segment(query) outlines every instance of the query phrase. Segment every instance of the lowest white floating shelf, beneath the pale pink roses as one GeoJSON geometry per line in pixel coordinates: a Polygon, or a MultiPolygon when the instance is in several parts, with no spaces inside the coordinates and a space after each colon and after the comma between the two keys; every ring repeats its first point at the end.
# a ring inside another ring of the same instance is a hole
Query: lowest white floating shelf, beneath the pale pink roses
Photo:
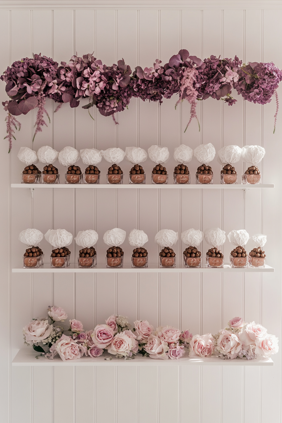
{"type": "Polygon", "coordinates": [[[35,358],[35,351],[30,348],[20,349],[16,357],[12,361],[13,366],[273,366],[274,363],[271,358],[255,360],[222,360],[218,357],[207,358],[189,358],[183,357],[179,360],[156,360],[149,357],[137,356],[133,360],[123,360],[115,358],[113,355],[104,353],[97,358],[82,357],[77,360],[67,360],[64,362],[60,357],[56,356],[53,360],[48,360],[45,357],[35,358]],[[112,360],[105,360],[107,357],[112,357],[112,360]]]}

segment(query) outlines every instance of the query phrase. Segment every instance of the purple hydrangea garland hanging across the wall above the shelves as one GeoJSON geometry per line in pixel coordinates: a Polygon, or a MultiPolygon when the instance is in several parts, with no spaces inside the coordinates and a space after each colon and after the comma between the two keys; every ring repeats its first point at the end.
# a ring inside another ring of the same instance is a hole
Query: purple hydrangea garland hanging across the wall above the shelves
{"type": "Polygon", "coordinates": [[[252,103],[269,103],[275,95],[275,131],[278,112],[276,90],[282,80],[282,71],[274,63],[254,62],[245,65],[237,56],[232,60],[213,55],[201,60],[190,56],[185,49],[173,55],[164,66],[161,63],[157,59],[151,68],[142,69],[137,66],[131,74],[131,68],[124,60],[118,60],[117,65],[106,66],[91,54],[82,58],[72,56],[69,63],[61,62],[61,66],[41,54],[34,55],[32,59],[14,62],[1,75],[1,80],[6,82],[6,93],[10,97],[9,101],[2,103],[8,111],[5,118],[5,138],[9,141],[9,152],[12,138],[15,139],[16,125],[20,129],[14,116],[22,113],[26,115],[38,107],[33,139],[42,131],[42,126],[47,126],[44,120],[44,113],[49,119],[45,109],[46,98],[58,103],[56,112],[63,103],[77,107],[79,99],[87,97],[89,103],[82,108],[96,106],[101,115],[112,115],[115,121],[114,113],[124,110],[131,97],[161,104],[163,98],[169,99],[178,93],[179,99],[175,107],[184,99],[191,105],[187,129],[192,119],[197,119],[197,100],[212,97],[232,106],[237,101],[231,97],[232,88],[235,88],[245,100],[252,103]]]}

